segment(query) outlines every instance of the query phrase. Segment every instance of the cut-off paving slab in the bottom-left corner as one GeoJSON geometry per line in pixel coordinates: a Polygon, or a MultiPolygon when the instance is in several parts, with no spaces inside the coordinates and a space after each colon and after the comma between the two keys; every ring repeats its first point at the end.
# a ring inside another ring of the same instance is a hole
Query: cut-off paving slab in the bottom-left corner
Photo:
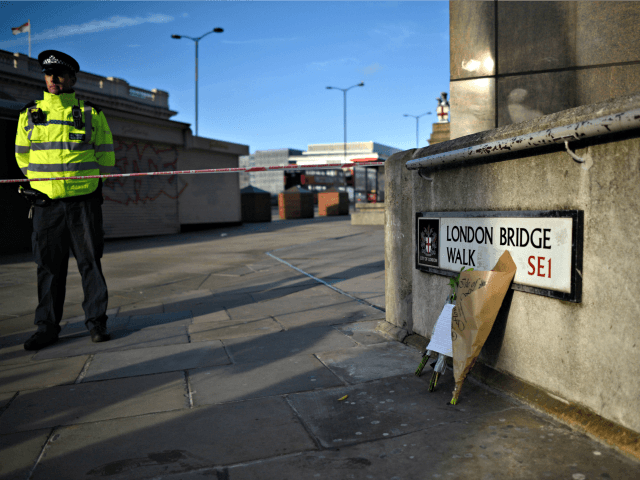
{"type": "Polygon", "coordinates": [[[0,435],[0,480],[24,480],[36,464],[51,429],[0,435]]]}

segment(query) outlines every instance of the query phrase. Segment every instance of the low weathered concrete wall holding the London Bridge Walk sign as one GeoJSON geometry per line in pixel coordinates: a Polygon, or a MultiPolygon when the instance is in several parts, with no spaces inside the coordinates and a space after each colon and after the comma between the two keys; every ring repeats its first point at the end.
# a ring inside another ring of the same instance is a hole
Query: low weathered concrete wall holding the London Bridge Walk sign
{"type": "Polygon", "coordinates": [[[402,170],[413,158],[635,108],[640,94],[390,158],[387,320],[428,337],[449,290],[447,277],[415,269],[415,212],[583,210],[582,303],[511,290],[480,361],[640,432],[640,132],[572,143],[582,165],[550,146],[429,172],[433,181],[402,170]]]}

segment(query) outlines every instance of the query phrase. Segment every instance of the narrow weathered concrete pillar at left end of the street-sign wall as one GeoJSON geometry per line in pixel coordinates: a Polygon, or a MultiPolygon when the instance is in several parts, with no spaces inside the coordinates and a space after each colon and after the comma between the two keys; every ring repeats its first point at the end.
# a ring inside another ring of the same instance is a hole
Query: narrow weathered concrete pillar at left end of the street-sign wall
{"type": "Polygon", "coordinates": [[[411,172],[405,164],[415,150],[396,153],[385,162],[384,268],[386,319],[413,332],[413,226],[411,172]]]}

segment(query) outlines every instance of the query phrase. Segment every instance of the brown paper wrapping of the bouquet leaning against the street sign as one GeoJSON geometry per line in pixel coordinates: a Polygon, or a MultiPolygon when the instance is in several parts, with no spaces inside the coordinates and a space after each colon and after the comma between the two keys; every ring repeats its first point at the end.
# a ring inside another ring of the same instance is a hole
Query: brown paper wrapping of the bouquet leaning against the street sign
{"type": "Polygon", "coordinates": [[[451,315],[453,376],[456,381],[451,403],[460,395],[462,383],[471,371],[516,274],[516,264],[508,250],[490,272],[460,274],[456,306],[451,315]]]}

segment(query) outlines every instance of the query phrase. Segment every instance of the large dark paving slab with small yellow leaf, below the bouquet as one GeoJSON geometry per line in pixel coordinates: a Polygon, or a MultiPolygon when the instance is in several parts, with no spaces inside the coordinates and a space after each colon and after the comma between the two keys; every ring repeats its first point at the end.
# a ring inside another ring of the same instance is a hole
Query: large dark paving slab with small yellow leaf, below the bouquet
{"type": "Polygon", "coordinates": [[[447,387],[451,388],[429,392],[428,379],[411,375],[292,394],[287,400],[326,448],[406,435],[443,422],[514,408],[506,398],[476,385],[470,387],[473,391],[465,405],[449,405],[452,380],[447,387]],[[348,397],[340,400],[345,395],[348,397]]]}

